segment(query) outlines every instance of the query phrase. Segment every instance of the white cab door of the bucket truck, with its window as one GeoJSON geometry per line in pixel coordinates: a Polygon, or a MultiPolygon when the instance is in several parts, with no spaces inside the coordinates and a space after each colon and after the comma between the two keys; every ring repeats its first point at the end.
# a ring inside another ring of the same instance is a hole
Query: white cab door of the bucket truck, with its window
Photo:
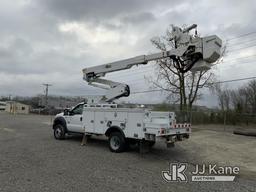
{"type": "Polygon", "coordinates": [[[84,132],[82,122],[83,122],[83,104],[77,105],[69,112],[69,116],[67,117],[67,128],[72,132],[84,132]]]}

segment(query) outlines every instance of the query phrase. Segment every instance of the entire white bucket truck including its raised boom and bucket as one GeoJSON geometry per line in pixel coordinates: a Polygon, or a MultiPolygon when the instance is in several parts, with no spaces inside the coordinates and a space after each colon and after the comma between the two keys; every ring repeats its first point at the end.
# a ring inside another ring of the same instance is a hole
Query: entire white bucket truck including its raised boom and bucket
{"type": "Polygon", "coordinates": [[[105,135],[109,138],[112,152],[124,151],[129,143],[153,146],[156,141],[164,141],[168,147],[173,146],[175,141],[189,138],[191,125],[177,123],[174,112],[119,108],[113,101],[128,97],[129,86],[101,77],[167,58],[182,73],[209,70],[220,57],[221,39],[216,35],[203,38],[190,35],[189,31],[194,28],[196,25],[183,30],[173,26],[171,41],[174,41],[175,47],[171,50],[83,69],[84,80],[89,85],[106,89],[107,93],[56,115],[53,123],[55,138],[64,139],[66,133],[82,133],[85,137],[105,135]]]}

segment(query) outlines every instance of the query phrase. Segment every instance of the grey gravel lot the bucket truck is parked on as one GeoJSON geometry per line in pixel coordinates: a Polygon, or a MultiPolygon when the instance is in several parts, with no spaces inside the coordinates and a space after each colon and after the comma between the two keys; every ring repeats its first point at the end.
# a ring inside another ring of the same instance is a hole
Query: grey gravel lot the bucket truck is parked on
{"type": "Polygon", "coordinates": [[[115,154],[102,139],[55,140],[50,118],[0,114],[0,191],[256,191],[256,138],[200,129],[175,148],[115,154]],[[161,172],[175,162],[188,162],[188,170],[238,165],[241,174],[235,182],[167,183],[161,172]]]}

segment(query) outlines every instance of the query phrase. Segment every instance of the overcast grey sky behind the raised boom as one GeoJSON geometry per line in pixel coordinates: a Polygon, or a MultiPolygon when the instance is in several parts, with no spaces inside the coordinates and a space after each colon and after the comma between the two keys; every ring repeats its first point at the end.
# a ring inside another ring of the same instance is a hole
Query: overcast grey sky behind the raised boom
{"type": "MultiPolygon", "coordinates": [[[[40,94],[42,83],[53,84],[50,94],[54,95],[103,94],[86,85],[82,69],[157,51],[150,39],[164,35],[170,24],[196,23],[201,35],[217,34],[224,41],[256,31],[254,0],[0,2],[0,95],[40,94]]],[[[236,50],[253,45],[246,44],[251,39],[256,40],[256,35],[228,42],[231,51],[224,61],[255,55],[255,47],[236,50]]],[[[255,76],[255,59],[224,62],[216,75],[220,80],[255,76]]],[[[109,77],[131,84],[132,91],[146,90],[149,85],[143,76],[152,74],[153,68],[148,65],[109,77]]],[[[160,93],[138,94],[127,101],[160,102],[163,98],[160,93]]],[[[216,104],[214,98],[207,98],[201,104],[216,104]]]]}

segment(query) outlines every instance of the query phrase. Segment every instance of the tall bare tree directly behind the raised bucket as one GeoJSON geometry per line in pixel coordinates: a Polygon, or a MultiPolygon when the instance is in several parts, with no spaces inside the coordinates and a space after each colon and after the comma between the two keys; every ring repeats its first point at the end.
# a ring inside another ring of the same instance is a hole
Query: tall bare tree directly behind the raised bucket
{"type": "MultiPolygon", "coordinates": [[[[161,51],[174,48],[174,43],[169,41],[172,38],[171,31],[163,37],[151,39],[152,44],[161,51]]],[[[180,66],[175,65],[171,59],[157,61],[157,78],[150,79],[154,87],[167,91],[168,100],[179,103],[180,110],[190,111],[194,102],[200,99],[200,90],[204,87],[211,87],[215,81],[214,73],[210,71],[180,72],[180,66]]]]}

